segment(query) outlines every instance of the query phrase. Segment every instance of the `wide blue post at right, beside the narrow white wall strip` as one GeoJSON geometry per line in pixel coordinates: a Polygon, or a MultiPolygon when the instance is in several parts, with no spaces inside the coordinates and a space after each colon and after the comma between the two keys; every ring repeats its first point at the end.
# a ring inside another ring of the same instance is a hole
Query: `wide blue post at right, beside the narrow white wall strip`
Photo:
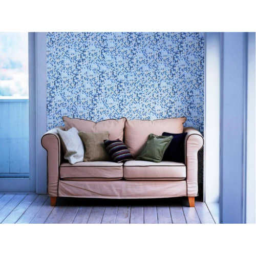
{"type": "Polygon", "coordinates": [[[221,33],[221,45],[220,222],[246,223],[248,33],[221,33]]]}

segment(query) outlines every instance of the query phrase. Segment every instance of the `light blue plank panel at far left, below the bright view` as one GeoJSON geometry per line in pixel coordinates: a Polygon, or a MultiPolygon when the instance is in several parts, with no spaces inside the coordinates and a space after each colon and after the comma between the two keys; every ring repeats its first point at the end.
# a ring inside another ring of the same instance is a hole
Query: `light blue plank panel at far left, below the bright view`
{"type": "Polygon", "coordinates": [[[29,100],[0,99],[0,177],[29,177],[29,100]]]}

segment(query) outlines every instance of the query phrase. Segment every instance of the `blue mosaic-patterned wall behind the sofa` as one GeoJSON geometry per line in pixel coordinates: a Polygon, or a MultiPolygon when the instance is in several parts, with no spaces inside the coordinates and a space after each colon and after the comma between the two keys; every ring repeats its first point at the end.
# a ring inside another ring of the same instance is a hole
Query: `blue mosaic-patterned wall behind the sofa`
{"type": "Polygon", "coordinates": [[[47,128],[186,116],[203,133],[203,33],[47,33],[47,128]]]}

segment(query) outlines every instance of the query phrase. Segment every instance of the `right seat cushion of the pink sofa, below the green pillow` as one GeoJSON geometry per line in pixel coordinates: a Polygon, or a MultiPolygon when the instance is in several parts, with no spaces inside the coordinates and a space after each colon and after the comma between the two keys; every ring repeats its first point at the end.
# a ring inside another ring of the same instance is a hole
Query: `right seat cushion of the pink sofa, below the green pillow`
{"type": "Polygon", "coordinates": [[[127,161],[123,165],[123,176],[126,180],[184,180],[186,166],[169,161],[127,161]]]}

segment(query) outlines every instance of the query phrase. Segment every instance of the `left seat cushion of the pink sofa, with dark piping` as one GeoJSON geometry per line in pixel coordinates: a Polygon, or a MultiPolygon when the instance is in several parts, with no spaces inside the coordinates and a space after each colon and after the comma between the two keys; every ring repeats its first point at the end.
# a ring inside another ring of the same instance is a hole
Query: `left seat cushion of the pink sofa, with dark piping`
{"type": "Polygon", "coordinates": [[[123,178],[123,163],[97,161],[71,165],[62,163],[59,168],[61,180],[103,181],[123,178]]]}

